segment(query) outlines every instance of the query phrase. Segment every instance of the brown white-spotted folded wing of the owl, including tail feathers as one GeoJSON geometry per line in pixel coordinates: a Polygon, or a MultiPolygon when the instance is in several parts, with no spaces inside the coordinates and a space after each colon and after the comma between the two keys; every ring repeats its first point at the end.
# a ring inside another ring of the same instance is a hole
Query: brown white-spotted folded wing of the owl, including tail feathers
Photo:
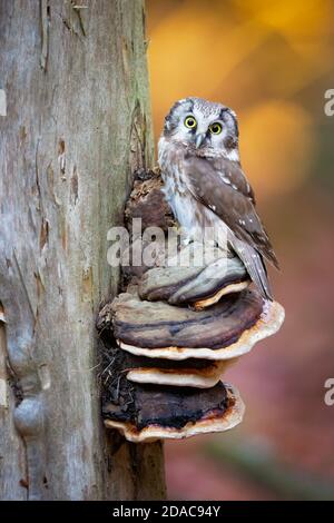
{"type": "Polygon", "coordinates": [[[239,164],[189,156],[185,159],[184,174],[188,190],[227,225],[233,233],[232,245],[249,276],[263,295],[273,299],[262,256],[277,268],[278,262],[239,164]]]}

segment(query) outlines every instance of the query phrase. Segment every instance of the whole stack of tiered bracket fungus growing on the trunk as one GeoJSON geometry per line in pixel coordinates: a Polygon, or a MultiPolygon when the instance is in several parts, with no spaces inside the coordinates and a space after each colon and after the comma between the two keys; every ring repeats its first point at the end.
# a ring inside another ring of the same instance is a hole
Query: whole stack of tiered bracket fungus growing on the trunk
{"type": "MultiPolygon", "coordinates": [[[[164,243],[173,223],[158,189],[157,172],[137,179],[126,221],[158,224],[164,243]]],[[[222,376],[284,320],[283,307],[258,294],[239,258],[210,245],[194,264],[198,250],[196,241],[179,244],[151,267],[127,268],[124,292],[99,313],[105,425],[128,441],[183,438],[240,423],[244,403],[222,376]],[[190,263],[176,263],[183,256],[190,263]]]]}

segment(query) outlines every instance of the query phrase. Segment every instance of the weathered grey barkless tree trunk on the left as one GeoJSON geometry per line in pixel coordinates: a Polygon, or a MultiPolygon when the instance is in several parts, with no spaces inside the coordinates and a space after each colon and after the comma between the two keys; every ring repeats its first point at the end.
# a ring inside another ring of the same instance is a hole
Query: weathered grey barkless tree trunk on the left
{"type": "Polygon", "coordinates": [[[102,427],[95,332],[107,230],[153,159],[144,24],[141,0],[0,3],[2,500],[165,494],[160,443],[102,427]]]}

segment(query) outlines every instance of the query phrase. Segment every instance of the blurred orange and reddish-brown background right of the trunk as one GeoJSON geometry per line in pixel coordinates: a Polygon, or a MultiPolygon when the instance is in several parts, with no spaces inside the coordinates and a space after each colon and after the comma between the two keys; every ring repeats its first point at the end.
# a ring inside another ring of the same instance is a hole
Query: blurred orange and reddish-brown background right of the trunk
{"type": "Polygon", "coordinates": [[[282,272],[282,330],[227,374],[246,403],[230,433],[166,445],[179,500],[334,499],[334,2],[147,0],[156,137],[173,102],[238,115],[242,162],[282,272]]]}

